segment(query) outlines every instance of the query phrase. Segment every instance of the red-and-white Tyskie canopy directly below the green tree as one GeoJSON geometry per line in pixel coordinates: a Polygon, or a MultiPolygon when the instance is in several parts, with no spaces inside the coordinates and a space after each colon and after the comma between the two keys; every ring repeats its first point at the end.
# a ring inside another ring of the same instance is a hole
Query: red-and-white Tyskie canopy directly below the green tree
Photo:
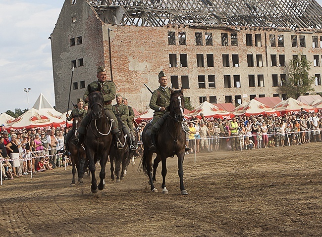
{"type": "Polygon", "coordinates": [[[281,114],[286,114],[288,112],[290,112],[291,114],[300,114],[301,108],[303,108],[307,112],[317,112],[318,110],[317,108],[314,108],[293,98],[283,100],[274,107],[274,109],[281,112],[281,114]]]}

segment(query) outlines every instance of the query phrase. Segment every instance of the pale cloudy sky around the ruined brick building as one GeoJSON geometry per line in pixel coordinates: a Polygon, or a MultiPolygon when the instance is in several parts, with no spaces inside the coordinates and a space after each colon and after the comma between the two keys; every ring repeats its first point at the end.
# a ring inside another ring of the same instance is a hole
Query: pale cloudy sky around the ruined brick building
{"type": "MultiPolygon", "coordinates": [[[[322,0],[318,0],[322,5],[322,0]]],[[[0,0],[0,113],[31,108],[42,93],[54,106],[51,42],[64,0],[0,0]],[[29,93],[24,88],[30,88],[29,93]],[[28,98],[28,99],[27,99],[28,98]]]]}

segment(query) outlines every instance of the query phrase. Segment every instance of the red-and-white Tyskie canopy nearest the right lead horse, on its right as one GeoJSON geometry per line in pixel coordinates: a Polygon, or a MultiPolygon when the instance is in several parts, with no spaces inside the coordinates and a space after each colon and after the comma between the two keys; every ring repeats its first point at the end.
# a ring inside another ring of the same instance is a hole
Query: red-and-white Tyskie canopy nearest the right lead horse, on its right
{"type": "Polygon", "coordinates": [[[226,110],[223,110],[208,101],[203,102],[197,108],[193,109],[190,113],[187,114],[187,117],[192,115],[197,116],[200,113],[203,113],[207,121],[212,121],[215,118],[220,119],[231,119],[234,115],[226,110]]]}

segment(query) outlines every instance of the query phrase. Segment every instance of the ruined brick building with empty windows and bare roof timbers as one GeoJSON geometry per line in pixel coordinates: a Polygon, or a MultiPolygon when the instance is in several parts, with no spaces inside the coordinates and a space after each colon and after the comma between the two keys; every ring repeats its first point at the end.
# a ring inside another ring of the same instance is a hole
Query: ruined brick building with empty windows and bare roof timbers
{"type": "Polygon", "coordinates": [[[191,105],[279,96],[289,61],[312,62],[322,92],[322,7],[315,0],[65,0],[51,35],[56,108],[105,65],[118,92],[147,108],[164,70],[191,105]]]}

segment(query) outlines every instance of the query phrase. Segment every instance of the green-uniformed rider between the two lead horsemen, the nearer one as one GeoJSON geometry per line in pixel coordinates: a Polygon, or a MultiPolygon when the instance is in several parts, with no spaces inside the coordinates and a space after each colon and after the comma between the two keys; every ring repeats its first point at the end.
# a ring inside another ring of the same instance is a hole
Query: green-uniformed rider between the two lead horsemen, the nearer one
{"type": "Polygon", "coordinates": [[[130,149],[136,150],[137,148],[132,143],[131,134],[126,121],[128,118],[129,109],[126,105],[122,103],[122,99],[123,99],[122,95],[120,94],[116,95],[116,104],[112,106],[112,111],[115,114],[116,118],[119,118],[122,121],[122,130],[123,130],[123,133],[127,135],[127,138],[128,138],[127,141],[130,144],[130,149]]]}

